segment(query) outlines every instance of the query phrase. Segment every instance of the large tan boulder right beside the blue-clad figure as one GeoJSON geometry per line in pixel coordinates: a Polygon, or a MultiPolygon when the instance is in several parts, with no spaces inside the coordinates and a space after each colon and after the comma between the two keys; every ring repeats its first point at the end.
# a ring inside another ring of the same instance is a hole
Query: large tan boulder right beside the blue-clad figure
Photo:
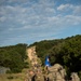
{"type": "Polygon", "coordinates": [[[48,75],[51,81],[66,81],[66,71],[62,65],[55,64],[52,67],[49,67],[50,73],[48,75]]]}

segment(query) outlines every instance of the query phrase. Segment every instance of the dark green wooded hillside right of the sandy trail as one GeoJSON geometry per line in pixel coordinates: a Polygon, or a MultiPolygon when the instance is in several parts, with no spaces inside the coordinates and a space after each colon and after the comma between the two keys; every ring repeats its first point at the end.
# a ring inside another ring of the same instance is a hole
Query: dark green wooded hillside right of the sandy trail
{"type": "Polygon", "coordinates": [[[36,45],[42,65],[49,55],[52,65],[58,63],[66,68],[68,75],[76,71],[81,76],[81,35],[66,39],[43,40],[31,45],[36,45]]]}

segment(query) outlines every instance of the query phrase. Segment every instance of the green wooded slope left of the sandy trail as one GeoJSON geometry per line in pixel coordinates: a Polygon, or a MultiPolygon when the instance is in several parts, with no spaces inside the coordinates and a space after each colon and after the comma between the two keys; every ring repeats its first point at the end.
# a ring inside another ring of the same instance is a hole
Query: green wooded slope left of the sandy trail
{"type": "Polygon", "coordinates": [[[26,46],[27,44],[16,44],[0,48],[0,66],[9,67],[9,72],[21,72],[26,67],[26,46]]]}

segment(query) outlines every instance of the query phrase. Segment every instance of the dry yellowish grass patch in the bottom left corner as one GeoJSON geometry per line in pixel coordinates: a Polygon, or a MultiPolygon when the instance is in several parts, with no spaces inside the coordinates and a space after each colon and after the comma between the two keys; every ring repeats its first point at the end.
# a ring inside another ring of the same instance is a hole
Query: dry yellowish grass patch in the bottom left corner
{"type": "Polygon", "coordinates": [[[0,81],[25,81],[26,70],[24,69],[22,73],[6,73],[0,75],[0,81]]]}

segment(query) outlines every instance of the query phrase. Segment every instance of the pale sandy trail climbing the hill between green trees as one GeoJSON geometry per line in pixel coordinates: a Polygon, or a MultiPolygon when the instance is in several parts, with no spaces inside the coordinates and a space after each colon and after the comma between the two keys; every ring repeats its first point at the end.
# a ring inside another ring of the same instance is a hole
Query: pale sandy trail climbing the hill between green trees
{"type": "Polygon", "coordinates": [[[36,46],[31,46],[31,48],[27,49],[26,52],[27,52],[27,55],[28,55],[30,67],[38,67],[38,66],[41,67],[41,60],[37,56],[36,46]]]}

